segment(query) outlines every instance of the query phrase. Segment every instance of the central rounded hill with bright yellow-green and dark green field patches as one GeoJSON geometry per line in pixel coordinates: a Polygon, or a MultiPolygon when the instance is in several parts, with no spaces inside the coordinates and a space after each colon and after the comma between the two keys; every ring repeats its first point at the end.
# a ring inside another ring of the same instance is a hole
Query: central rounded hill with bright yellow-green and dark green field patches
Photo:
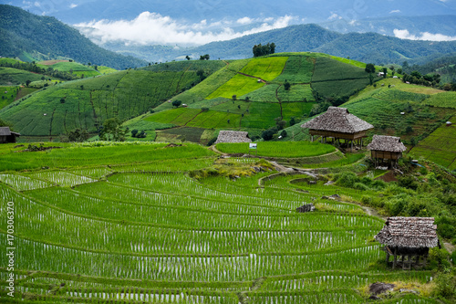
{"type": "MultiPolygon", "coordinates": [[[[181,130],[202,129],[197,142],[207,142],[221,129],[264,130],[277,117],[297,121],[307,117],[316,97],[354,94],[368,84],[365,64],[319,53],[281,53],[264,58],[226,62],[226,66],[172,100],[188,107],[159,111],[142,121],[171,123],[181,130]],[[285,89],[285,83],[289,88],[285,89]]],[[[171,140],[168,131],[159,132],[171,140]]]]}

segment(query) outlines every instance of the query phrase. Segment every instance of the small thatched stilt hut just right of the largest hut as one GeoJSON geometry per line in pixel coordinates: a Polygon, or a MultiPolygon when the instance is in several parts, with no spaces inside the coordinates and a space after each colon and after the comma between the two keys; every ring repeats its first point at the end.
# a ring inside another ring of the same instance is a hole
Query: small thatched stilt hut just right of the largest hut
{"type": "Polygon", "coordinates": [[[372,142],[368,144],[368,150],[376,166],[381,162],[388,162],[389,166],[396,165],[402,152],[406,151],[405,145],[399,137],[374,135],[372,142]]]}

